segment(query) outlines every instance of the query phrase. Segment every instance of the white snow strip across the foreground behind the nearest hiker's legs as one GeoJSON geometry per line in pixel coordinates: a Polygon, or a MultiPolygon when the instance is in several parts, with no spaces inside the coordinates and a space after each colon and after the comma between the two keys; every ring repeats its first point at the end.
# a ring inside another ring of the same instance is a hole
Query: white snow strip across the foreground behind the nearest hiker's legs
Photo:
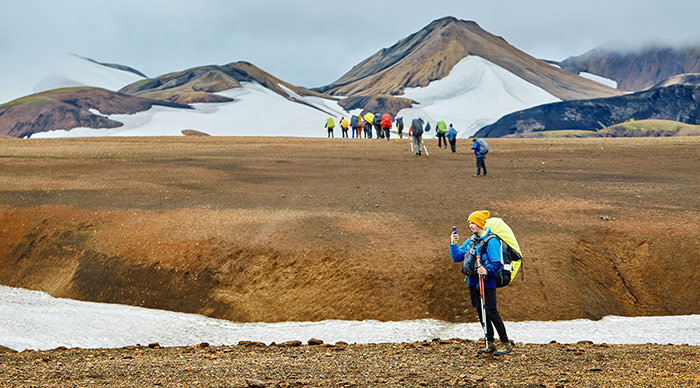
{"type": "MultiPolygon", "coordinates": [[[[588,340],[700,345],[700,315],[506,322],[506,328],[511,339],[523,343],[588,340]]],[[[40,291],[0,286],[0,345],[18,351],[59,346],[116,348],[153,342],[161,346],[201,342],[235,345],[242,340],[269,344],[306,342],[310,338],[326,343],[401,343],[433,338],[478,340],[482,335],[478,323],[433,319],[237,323],[196,314],[54,298],[40,291]]]]}

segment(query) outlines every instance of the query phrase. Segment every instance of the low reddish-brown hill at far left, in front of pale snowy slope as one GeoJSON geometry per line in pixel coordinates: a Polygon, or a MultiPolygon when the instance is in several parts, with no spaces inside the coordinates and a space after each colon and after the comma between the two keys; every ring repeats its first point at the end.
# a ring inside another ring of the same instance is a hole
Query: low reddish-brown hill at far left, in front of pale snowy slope
{"type": "Polygon", "coordinates": [[[116,128],[122,123],[105,115],[134,114],[154,105],[189,108],[93,87],[54,89],[0,105],[0,135],[22,138],[55,129],[116,128]]]}

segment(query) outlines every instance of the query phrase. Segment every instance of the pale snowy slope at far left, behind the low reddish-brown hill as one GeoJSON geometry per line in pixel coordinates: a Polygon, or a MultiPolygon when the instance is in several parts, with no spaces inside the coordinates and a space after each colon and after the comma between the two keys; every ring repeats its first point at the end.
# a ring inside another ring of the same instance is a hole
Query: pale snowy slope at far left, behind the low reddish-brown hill
{"type": "Polygon", "coordinates": [[[0,104],[51,89],[94,86],[112,91],[143,79],[134,73],[90,62],[64,53],[43,53],[26,62],[13,58],[0,63],[0,104]]]}

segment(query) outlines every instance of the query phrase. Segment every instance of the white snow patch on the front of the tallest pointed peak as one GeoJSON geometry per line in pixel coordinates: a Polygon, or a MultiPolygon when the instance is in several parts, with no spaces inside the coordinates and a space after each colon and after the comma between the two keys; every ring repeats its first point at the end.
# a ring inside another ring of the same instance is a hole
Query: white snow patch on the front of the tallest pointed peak
{"type": "MultiPolygon", "coordinates": [[[[459,137],[469,137],[508,113],[561,101],[476,55],[462,58],[443,79],[404,90],[402,97],[420,102],[397,114],[404,117],[407,126],[415,117],[427,120],[431,128],[438,120],[445,120],[447,125],[454,124],[459,137]]],[[[434,136],[435,132],[427,135],[434,136]]]]}

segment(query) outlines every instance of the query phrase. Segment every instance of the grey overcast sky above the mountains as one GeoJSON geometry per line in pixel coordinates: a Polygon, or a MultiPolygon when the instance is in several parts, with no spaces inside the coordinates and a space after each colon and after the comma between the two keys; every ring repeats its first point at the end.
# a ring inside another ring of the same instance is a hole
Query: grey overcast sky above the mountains
{"type": "Polygon", "coordinates": [[[59,50],[150,77],[245,60],[311,87],[443,16],[562,60],[609,41],[700,42],[698,15],[692,0],[2,0],[0,60],[59,50]]]}

